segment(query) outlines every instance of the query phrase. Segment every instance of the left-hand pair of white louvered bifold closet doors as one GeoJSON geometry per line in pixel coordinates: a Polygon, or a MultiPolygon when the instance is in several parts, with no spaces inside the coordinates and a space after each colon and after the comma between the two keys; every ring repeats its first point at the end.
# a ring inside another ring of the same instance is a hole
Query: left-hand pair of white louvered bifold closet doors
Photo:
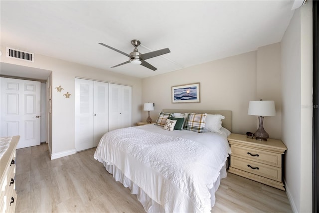
{"type": "Polygon", "coordinates": [[[75,150],[96,147],[108,132],[108,83],[75,79],[75,150]]]}

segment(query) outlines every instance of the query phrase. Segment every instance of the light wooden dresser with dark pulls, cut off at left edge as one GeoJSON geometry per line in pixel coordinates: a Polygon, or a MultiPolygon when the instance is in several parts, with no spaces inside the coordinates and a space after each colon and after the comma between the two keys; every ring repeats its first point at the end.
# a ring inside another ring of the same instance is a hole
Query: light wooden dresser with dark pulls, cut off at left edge
{"type": "Polygon", "coordinates": [[[15,192],[15,148],[20,136],[13,136],[8,149],[0,159],[0,213],[14,213],[15,192]]]}

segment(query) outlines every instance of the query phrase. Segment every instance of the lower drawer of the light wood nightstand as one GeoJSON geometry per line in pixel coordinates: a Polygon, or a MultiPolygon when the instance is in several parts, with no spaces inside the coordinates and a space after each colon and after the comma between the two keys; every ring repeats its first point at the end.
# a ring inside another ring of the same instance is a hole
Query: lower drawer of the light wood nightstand
{"type": "Polygon", "coordinates": [[[281,168],[278,167],[269,166],[235,156],[231,157],[230,166],[275,181],[282,181],[281,168]]]}

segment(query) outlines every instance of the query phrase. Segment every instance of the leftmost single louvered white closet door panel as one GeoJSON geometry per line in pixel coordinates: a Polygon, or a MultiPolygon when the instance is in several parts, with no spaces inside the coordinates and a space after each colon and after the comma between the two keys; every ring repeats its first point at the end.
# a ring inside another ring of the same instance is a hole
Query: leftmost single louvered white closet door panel
{"type": "Polygon", "coordinates": [[[75,150],[81,151],[93,147],[94,82],[75,79],[75,150]]]}

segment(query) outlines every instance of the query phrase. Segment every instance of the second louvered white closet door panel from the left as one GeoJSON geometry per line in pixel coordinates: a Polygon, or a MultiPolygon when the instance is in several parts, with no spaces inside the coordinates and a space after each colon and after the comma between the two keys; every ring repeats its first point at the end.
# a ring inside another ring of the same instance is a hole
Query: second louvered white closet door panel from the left
{"type": "Polygon", "coordinates": [[[94,81],[94,142],[96,147],[109,130],[109,84],[94,81]]]}

